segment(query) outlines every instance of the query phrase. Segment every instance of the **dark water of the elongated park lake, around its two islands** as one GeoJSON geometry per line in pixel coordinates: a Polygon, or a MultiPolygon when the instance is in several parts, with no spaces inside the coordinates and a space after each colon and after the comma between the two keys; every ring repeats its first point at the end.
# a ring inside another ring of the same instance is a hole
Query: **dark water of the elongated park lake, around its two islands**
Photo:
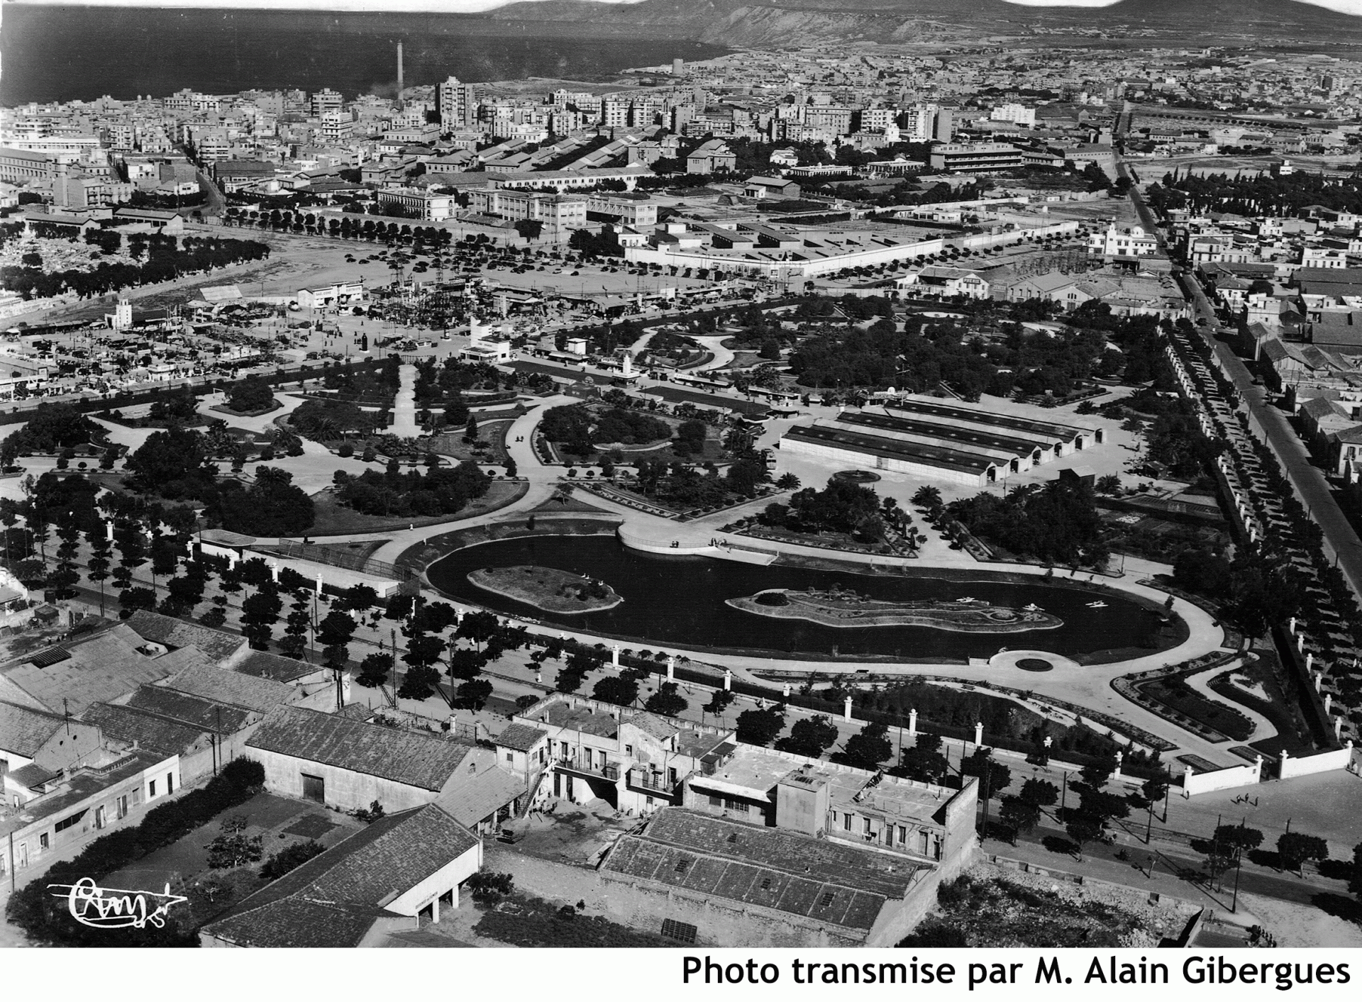
{"type": "Polygon", "coordinates": [[[1011,580],[983,572],[925,569],[906,575],[861,575],[798,566],[756,566],[708,557],[670,557],[631,550],[613,536],[534,535],[455,550],[426,575],[447,596],[498,613],[588,632],[601,637],[669,644],[689,649],[768,653],[774,658],[874,658],[948,662],[990,658],[1002,647],[1039,647],[1079,662],[1105,662],[1166,648],[1185,628],[1160,622],[1160,609],[1144,607],[1110,588],[1061,579],[1011,580]],[[622,599],[612,609],[557,614],[477,587],[469,575],[485,568],[557,568],[603,581],[622,599]],[[851,589],[881,602],[955,602],[1038,606],[1061,624],[1035,633],[953,632],[932,626],[828,626],[768,618],[734,609],[771,588],[851,589]],[[1100,599],[1102,609],[1087,603],[1100,599]]]}

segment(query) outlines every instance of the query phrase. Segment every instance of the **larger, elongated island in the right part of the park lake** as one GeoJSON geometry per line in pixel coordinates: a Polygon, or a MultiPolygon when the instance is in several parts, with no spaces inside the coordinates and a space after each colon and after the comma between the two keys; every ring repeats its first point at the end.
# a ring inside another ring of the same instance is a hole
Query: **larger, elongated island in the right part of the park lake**
{"type": "Polygon", "coordinates": [[[808,619],[823,626],[932,626],[956,633],[1022,633],[1064,625],[1042,609],[1008,609],[979,599],[887,602],[854,591],[791,591],[770,588],[726,599],[744,613],[774,619],[808,619]]]}

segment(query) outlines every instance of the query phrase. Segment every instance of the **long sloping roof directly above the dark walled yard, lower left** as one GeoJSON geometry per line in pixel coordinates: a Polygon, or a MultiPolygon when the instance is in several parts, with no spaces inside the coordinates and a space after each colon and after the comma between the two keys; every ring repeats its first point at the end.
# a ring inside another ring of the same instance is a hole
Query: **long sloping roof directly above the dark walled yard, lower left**
{"type": "Polygon", "coordinates": [[[266,717],[247,747],[439,791],[473,746],[316,709],[283,707],[266,717]]]}

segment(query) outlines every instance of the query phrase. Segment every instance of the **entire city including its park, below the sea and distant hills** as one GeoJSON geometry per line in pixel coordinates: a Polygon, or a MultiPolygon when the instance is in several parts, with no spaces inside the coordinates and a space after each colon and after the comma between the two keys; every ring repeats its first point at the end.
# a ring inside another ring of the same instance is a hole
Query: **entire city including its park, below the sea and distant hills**
{"type": "Polygon", "coordinates": [[[0,116],[7,942],[1362,945],[1362,64],[394,59],[0,116]]]}

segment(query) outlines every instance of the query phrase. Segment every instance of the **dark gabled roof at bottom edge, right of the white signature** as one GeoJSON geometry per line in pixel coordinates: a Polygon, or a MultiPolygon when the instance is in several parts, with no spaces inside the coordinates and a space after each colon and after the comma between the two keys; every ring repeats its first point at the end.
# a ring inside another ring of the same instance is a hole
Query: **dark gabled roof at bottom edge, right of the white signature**
{"type": "Polygon", "coordinates": [[[391,901],[475,850],[436,805],[375,821],[204,927],[238,946],[357,946],[391,901]]]}

